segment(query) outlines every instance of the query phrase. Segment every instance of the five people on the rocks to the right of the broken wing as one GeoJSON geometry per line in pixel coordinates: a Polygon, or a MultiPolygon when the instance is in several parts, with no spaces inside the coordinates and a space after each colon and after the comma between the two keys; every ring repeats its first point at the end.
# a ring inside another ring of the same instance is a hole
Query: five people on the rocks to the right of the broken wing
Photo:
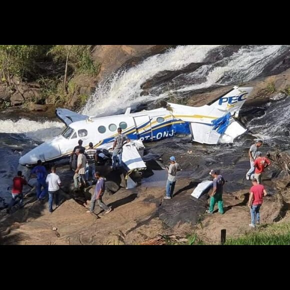
{"type": "MultiPolygon", "coordinates": [[[[267,195],[267,192],[262,182],[262,173],[264,169],[271,164],[268,158],[262,156],[262,152],[258,151],[258,148],[262,145],[262,141],[258,140],[252,144],[248,150],[250,169],[246,173],[246,179],[251,179],[252,186],[249,190],[248,207],[250,208],[251,223],[250,227],[255,227],[260,222],[259,210],[263,202],[263,197],[267,195]]],[[[164,199],[171,199],[173,196],[174,186],[176,183],[176,172],[181,170],[179,164],[176,162],[175,157],[169,158],[170,165],[167,168],[168,178],[166,182],[164,199]]],[[[209,208],[206,213],[212,214],[214,205],[217,203],[218,212],[224,213],[222,191],[225,183],[224,178],[219,174],[218,170],[212,169],[209,175],[213,177],[212,191],[210,192],[209,208]]]]}

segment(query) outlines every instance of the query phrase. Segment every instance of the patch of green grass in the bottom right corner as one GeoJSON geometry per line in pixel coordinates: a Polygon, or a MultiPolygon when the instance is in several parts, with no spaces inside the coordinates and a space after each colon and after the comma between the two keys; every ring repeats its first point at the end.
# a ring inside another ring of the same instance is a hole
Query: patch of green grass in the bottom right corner
{"type": "Polygon", "coordinates": [[[230,245],[280,245],[290,244],[290,223],[273,223],[253,229],[237,238],[228,238],[230,245]]]}

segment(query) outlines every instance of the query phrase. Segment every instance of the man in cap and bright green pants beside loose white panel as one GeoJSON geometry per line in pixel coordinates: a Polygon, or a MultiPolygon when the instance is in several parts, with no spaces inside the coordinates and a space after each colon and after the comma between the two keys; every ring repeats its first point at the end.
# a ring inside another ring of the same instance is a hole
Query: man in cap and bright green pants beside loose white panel
{"type": "Polygon", "coordinates": [[[209,208],[206,212],[213,213],[214,205],[217,202],[218,212],[223,214],[222,187],[225,181],[217,170],[212,169],[209,174],[213,177],[213,189],[210,194],[209,208]]]}

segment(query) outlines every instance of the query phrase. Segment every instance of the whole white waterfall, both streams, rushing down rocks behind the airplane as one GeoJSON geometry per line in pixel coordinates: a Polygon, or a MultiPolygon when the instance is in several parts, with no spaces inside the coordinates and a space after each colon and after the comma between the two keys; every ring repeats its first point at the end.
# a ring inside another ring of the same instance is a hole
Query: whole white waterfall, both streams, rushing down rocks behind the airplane
{"type": "MultiPolygon", "coordinates": [[[[208,52],[220,45],[184,45],[169,49],[166,53],[146,58],[136,66],[113,74],[100,84],[86,103],[81,113],[86,115],[109,114],[118,109],[168,96],[168,93],[190,91],[209,87],[213,84],[227,84],[233,81],[247,81],[257,76],[262,69],[286,45],[250,45],[212,64],[202,65],[186,75],[184,85],[176,90],[168,90],[159,95],[140,95],[141,84],[156,73],[176,70],[192,62],[202,62],[208,52]],[[205,77],[202,83],[194,84],[194,79],[205,77]],[[223,81],[223,77],[225,77],[223,81]],[[188,83],[187,83],[188,82],[188,83]]],[[[179,76],[178,76],[179,77],[179,76]]]]}

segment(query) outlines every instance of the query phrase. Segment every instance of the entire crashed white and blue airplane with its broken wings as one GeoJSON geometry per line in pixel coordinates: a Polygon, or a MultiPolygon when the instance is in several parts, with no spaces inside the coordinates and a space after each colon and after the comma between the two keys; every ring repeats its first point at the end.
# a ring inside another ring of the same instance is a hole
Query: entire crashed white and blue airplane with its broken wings
{"type": "Polygon", "coordinates": [[[56,114],[67,127],[65,130],[38,145],[20,157],[21,165],[33,165],[38,159],[55,161],[70,156],[78,139],[88,148],[112,147],[117,128],[122,128],[131,142],[124,145],[122,161],[127,170],[145,168],[139,152],[142,142],[158,141],[175,134],[191,135],[193,141],[205,144],[230,143],[246,131],[236,118],[252,87],[238,87],[226,92],[210,103],[192,107],[167,103],[166,108],[130,112],[105,117],[86,116],[68,109],[58,108],[56,114]]]}

